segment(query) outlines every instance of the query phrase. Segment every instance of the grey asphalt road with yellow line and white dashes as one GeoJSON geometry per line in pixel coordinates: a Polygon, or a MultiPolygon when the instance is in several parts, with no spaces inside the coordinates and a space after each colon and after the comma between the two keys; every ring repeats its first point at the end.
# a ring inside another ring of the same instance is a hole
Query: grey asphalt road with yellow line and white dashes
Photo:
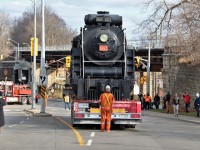
{"type": "MultiPolygon", "coordinates": [[[[145,112],[135,129],[115,127],[110,133],[99,126],[72,128],[70,111],[63,102],[50,101],[46,112],[53,117],[33,117],[24,109],[4,107],[6,125],[0,134],[0,150],[199,150],[200,124],[145,112]],[[151,115],[148,115],[151,114],[151,115]],[[81,141],[81,142],[80,142],[81,141]],[[82,144],[81,144],[82,143],[82,144]]],[[[37,109],[40,106],[37,105],[37,109]]]]}

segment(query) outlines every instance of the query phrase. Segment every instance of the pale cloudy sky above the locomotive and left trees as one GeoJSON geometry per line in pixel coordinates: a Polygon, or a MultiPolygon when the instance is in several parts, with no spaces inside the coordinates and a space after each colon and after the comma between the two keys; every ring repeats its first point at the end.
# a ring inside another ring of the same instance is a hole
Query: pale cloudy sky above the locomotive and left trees
{"type": "MultiPolygon", "coordinates": [[[[23,12],[32,7],[34,0],[0,0],[0,10],[12,18],[22,16],[23,12]]],[[[79,31],[84,26],[84,16],[95,14],[99,10],[109,11],[123,17],[123,27],[126,28],[128,40],[131,40],[134,20],[141,20],[145,16],[144,5],[147,0],[45,0],[45,4],[65,20],[73,29],[79,31]]],[[[36,0],[37,5],[41,0],[36,0]]]]}

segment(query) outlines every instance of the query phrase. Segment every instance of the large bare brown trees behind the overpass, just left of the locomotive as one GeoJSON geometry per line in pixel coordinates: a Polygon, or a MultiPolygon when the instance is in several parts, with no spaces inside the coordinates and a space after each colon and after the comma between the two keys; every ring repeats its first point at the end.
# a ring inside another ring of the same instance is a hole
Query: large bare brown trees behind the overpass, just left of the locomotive
{"type": "MultiPolygon", "coordinates": [[[[41,10],[37,9],[37,37],[41,44],[41,10]]],[[[45,36],[46,46],[71,44],[77,31],[69,27],[49,6],[45,7],[45,36]]],[[[12,38],[22,43],[30,43],[34,35],[34,11],[23,13],[22,17],[14,21],[12,38]]]]}

